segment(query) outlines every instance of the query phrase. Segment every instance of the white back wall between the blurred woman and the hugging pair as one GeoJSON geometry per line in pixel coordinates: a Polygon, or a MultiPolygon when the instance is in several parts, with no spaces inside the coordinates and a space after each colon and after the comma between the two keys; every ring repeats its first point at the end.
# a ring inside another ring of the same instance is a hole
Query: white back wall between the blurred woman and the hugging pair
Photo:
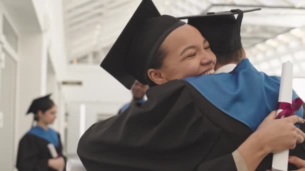
{"type": "Polygon", "coordinates": [[[76,155],[80,138],[80,105],[86,106],[85,129],[96,122],[97,113],[104,118],[117,113],[118,109],[131,100],[131,92],[109,75],[99,65],[68,65],[66,80],[81,80],[82,85],[63,85],[67,100],[68,139],[67,153],[76,155]]]}

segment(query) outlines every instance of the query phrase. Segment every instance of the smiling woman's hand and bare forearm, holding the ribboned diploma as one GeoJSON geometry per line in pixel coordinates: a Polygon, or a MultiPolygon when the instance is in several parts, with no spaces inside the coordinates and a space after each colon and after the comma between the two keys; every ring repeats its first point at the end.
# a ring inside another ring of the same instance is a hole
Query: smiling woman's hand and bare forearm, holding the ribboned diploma
{"type": "Polygon", "coordinates": [[[292,149],[295,143],[304,141],[305,134],[294,126],[304,123],[297,115],[275,119],[272,111],[238,148],[248,170],[255,170],[261,160],[270,152],[292,149]]]}

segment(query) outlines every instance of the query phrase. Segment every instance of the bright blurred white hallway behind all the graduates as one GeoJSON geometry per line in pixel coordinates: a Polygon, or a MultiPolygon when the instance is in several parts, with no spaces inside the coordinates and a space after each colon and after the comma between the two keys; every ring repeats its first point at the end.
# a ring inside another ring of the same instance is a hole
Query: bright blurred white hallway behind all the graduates
{"type": "MultiPolygon", "coordinates": [[[[31,100],[52,92],[64,152],[115,115],[129,90],[99,64],[141,0],[0,0],[0,170],[15,170],[19,139],[31,127],[31,100]]],[[[261,7],[244,15],[242,41],[258,70],[280,75],[294,63],[305,99],[305,0],[153,0],[163,14],[192,15],[261,7]]]]}

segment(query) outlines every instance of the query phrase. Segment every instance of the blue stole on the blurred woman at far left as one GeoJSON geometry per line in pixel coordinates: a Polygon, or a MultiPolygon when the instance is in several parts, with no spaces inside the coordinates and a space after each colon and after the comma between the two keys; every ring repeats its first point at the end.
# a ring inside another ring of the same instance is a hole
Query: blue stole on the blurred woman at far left
{"type": "Polygon", "coordinates": [[[41,137],[41,138],[49,141],[50,143],[53,143],[56,147],[59,147],[58,134],[54,129],[52,129],[50,127],[46,131],[45,129],[43,129],[40,126],[34,126],[29,130],[28,133],[41,137]]]}

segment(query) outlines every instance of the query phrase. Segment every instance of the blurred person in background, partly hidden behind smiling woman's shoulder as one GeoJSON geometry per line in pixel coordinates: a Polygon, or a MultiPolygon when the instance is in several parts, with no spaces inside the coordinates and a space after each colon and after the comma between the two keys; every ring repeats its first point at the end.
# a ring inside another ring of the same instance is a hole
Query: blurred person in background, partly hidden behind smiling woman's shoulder
{"type": "Polygon", "coordinates": [[[143,103],[145,101],[144,100],[144,95],[145,95],[145,92],[146,92],[147,88],[148,88],[148,85],[144,85],[144,84],[140,83],[139,81],[135,80],[133,85],[132,85],[132,88],[131,88],[131,92],[132,92],[131,102],[124,104],[119,109],[117,114],[126,110],[132,102],[136,102],[136,103],[140,103],[140,104],[143,103]]]}

